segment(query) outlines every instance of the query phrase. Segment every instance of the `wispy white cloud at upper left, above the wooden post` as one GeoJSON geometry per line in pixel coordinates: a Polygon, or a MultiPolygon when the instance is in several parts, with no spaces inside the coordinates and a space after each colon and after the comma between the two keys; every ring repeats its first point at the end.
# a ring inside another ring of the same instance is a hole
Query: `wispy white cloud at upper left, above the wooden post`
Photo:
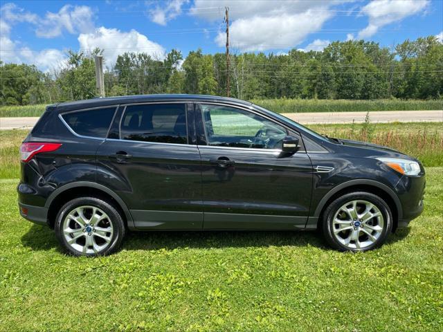
{"type": "Polygon", "coordinates": [[[65,5],[59,12],[47,12],[37,23],[38,37],[53,38],[68,33],[89,33],[93,31],[93,12],[88,6],[65,5]]]}

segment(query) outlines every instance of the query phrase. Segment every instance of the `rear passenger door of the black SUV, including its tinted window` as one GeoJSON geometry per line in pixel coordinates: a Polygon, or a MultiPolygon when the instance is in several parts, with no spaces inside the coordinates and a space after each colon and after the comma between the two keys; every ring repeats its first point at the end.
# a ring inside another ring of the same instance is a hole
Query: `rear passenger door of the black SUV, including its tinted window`
{"type": "Polygon", "coordinates": [[[183,102],[120,107],[98,149],[97,181],[125,201],[135,228],[202,228],[201,160],[188,131],[191,109],[183,102]]]}

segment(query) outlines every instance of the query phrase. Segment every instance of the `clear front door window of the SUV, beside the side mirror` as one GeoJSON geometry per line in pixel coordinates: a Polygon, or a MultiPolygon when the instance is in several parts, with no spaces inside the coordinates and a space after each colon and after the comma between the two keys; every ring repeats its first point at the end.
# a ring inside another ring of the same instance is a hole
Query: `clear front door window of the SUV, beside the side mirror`
{"type": "Polygon", "coordinates": [[[221,105],[201,105],[208,145],[280,149],[286,129],[254,113],[221,105]]]}

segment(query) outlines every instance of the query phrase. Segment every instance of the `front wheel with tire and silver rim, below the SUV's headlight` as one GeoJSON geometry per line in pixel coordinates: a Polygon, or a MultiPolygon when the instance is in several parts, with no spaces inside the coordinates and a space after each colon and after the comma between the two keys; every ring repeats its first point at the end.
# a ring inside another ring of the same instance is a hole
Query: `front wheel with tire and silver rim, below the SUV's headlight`
{"type": "Polygon", "coordinates": [[[351,192],[329,204],[321,228],[329,246],[336,250],[368,251],[385,243],[392,230],[392,213],[379,196],[351,192]]]}

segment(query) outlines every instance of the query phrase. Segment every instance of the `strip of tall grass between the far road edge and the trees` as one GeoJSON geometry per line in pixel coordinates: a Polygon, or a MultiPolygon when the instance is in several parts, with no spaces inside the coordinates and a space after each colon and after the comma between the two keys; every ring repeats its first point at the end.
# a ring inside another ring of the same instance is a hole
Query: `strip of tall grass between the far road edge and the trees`
{"type": "MultiPolygon", "coordinates": [[[[350,112],[350,111],[426,111],[443,109],[443,100],[251,100],[278,113],[350,112]]],[[[2,106],[1,117],[41,116],[46,105],[2,106]]]]}

